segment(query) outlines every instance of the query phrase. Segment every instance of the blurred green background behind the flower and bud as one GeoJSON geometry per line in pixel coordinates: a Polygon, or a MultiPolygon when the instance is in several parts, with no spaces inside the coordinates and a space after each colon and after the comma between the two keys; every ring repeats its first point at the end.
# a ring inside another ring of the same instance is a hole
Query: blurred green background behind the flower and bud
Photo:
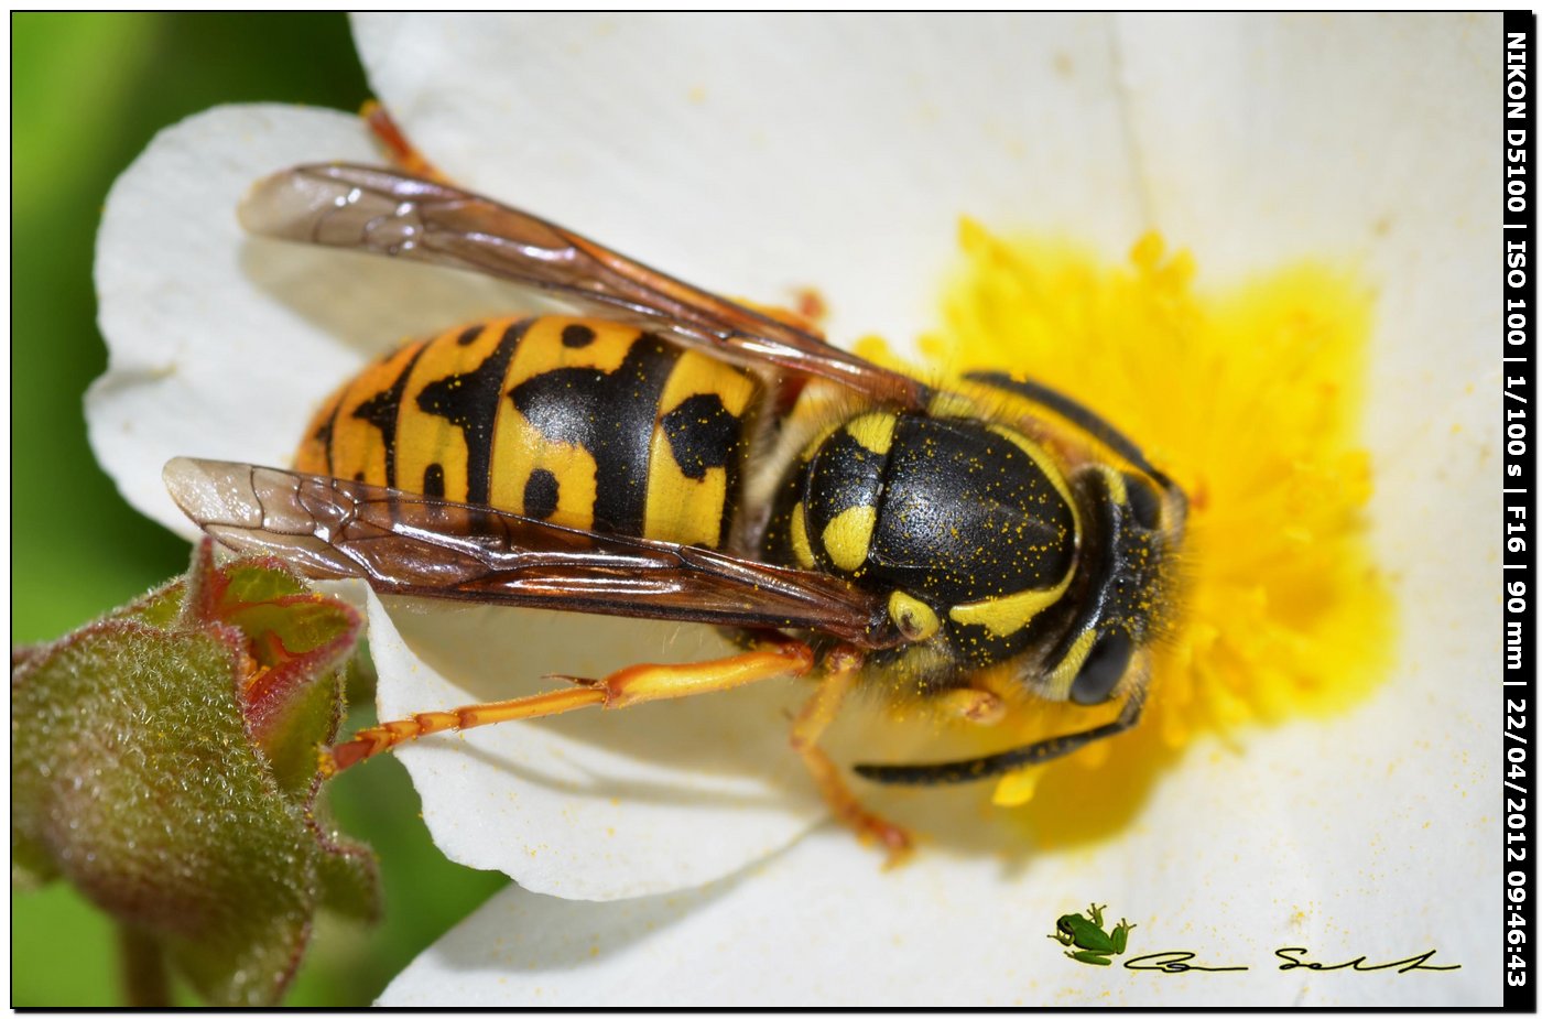
{"type": "MultiPolygon", "coordinates": [[[[106,367],[91,259],[113,180],[208,106],[358,109],[369,86],[339,14],[14,14],[11,57],[11,638],[29,643],[187,566],[188,547],[130,510],[86,446],[82,395],[106,367]]],[[[288,1005],[369,1004],[506,882],[433,849],[393,760],[339,779],[332,803],[381,856],[386,919],[324,920],[288,1005]]],[[[122,1004],[113,928],[71,890],[12,896],[11,931],[12,1007],[122,1004]]]]}

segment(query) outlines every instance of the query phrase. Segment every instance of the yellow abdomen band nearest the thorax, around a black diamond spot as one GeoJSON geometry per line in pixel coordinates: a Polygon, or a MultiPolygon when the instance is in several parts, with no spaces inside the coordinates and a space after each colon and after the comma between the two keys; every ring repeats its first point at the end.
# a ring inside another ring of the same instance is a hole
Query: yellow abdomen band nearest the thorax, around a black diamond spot
{"type": "Polygon", "coordinates": [[[708,467],[703,478],[688,478],[675,461],[663,427],[665,415],[680,404],[692,396],[712,393],[722,401],[723,410],[743,418],[756,384],[743,372],[711,358],[692,351],[680,355],[658,399],[658,416],[649,441],[648,503],[643,515],[643,533],[649,538],[708,547],[717,547],[722,540],[728,469],[708,467]]]}

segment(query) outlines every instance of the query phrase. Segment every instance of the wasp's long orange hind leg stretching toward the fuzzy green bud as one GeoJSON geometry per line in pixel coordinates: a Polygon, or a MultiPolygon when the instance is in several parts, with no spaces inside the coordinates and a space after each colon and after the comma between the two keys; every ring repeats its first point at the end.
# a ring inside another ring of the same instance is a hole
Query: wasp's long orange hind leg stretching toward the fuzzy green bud
{"type": "Polygon", "coordinates": [[[473,729],[517,718],[544,718],[580,708],[626,708],[649,700],[715,694],[760,680],[799,677],[813,668],[814,652],[808,644],[777,635],[774,640],[759,641],[754,651],[729,658],[688,664],[635,664],[603,680],[560,677],[575,686],[450,711],[424,711],[410,718],[359,729],[352,740],[325,752],[324,771],[342,771],[433,732],[473,729]]]}

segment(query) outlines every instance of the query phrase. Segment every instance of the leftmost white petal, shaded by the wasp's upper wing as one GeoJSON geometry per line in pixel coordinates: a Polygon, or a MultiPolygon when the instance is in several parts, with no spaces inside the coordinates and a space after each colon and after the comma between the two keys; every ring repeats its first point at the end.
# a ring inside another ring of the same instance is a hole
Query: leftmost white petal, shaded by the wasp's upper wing
{"type": "Polygon", "coordinates": [[[108,194],[97,298],[108,373],[86,396],[97,459],[183,535],[160,484],[179,455],[287,466],[316,405],[402,338],[507,310],[470,276],[248,239],[236,203],[299,162],[379,162],[356,117],[222,106],[156,136],[108,194]]]}

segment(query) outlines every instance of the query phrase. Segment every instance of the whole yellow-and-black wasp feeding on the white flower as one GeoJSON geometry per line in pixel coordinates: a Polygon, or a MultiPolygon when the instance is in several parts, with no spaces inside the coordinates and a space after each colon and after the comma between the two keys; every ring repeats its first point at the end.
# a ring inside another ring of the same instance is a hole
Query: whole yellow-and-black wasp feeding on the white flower
{"type": "Polygon", "coordinates": [[[298,166],[259,182],[241,219],[515,281],[578,314],[381,358],[319,410],[295,470],[171,461],[205,532],[382,594],[708,623],[739,644],[372,726],[328,751],[333,768],[433,732],[808,675],[793,748],[836,816],[897,856],[908,832],[819,748],[856,684],[978,721],[1007,700],[1123,700],[1112,721],[1027,746],[856,765],[879,783],[1001,775],[1140,718],[1187,501],[1086,405],[1005,372],[922,382],[427,176],[298,166]]]}

